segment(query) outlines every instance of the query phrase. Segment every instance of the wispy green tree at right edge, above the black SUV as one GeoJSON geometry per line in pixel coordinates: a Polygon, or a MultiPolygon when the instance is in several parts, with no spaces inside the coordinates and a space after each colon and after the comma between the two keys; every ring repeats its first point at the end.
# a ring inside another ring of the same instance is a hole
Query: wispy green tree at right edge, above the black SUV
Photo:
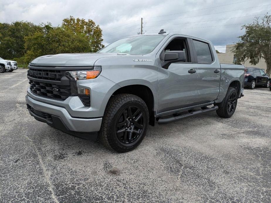
{"type": "Polygon", "coordinates": [[[266,63],[266,72],[271,74],[271,16],[265,15],[261,19],[256,17],[253,23],[243,25],[245,34],[239,36],[240,41],[233,48],[236,64],[249,60],[256,65],[263,58],[266,63]]]}

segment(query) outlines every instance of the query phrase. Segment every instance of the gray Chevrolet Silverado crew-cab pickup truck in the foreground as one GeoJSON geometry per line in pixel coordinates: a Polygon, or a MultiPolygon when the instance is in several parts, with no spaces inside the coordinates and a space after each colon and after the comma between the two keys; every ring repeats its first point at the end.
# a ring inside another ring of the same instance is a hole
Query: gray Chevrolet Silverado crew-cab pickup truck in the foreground
{"type": "Polygon", "coordinates": [[[26,103],[38,121],[128,152],[148,125],[216,111],[233,115],[244,66],[220,64],[213,44],[166,34],[120,39],[97,53],[40,56],[28,66],[26,103]]]}

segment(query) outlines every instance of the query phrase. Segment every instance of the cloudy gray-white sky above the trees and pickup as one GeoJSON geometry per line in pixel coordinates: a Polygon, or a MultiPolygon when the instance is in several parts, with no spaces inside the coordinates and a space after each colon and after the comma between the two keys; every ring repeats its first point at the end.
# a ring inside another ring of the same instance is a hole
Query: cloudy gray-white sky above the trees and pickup
{"type": "Polygon", "coordinates": [[[57,26],[69,16],[92,19],[103,30],[104,44],[143,31],[165,31],[211,40],[219,51],[244,33],[241,25],[271,11],[270,0],[2,0],[0,22],[27,20],[57,26]],[[220,47],[220,48],[219,48],[220,47]]]}

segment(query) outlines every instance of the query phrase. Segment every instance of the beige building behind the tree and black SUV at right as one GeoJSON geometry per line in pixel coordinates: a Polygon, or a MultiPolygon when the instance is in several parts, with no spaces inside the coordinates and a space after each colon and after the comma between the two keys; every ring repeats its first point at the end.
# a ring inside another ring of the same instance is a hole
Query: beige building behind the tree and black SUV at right
{"type": "MultiPolygon", "coordinates": [[[[220,63],[228,63],[233,64],[234,62],[234,54],[232,53],[231,49],[234,47],[234,44],[226,45],[226,53],[218,53],[217,56],[219,58],[220,63]]],[[[260,59],[259,63],[256,65],[252,65],[249,63],[249,60],[243,63],[245,67],[257,67],[265,71],[266,73],[266,63],[264,59],[260,59]]]]}

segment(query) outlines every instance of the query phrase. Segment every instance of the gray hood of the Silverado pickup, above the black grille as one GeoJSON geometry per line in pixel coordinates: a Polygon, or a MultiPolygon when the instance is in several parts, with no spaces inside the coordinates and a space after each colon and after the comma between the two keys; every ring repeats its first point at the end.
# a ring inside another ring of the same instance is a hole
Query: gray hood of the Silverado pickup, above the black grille
{"type": "Polygon", "coordinates": [[[30,65],[33,66],[94,66],[95,61],[107,57],[131,56],[116,53],[80,53],[80,54],[55,54],[40,56],[30,65]]]}

